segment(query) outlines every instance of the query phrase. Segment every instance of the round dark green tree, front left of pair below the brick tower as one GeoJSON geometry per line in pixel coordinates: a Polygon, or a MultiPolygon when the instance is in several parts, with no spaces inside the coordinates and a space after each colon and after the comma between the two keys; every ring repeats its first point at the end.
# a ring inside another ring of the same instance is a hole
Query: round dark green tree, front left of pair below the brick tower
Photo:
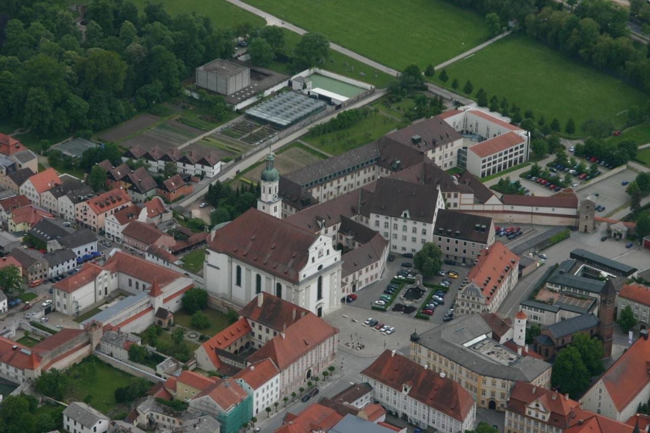
{"type": "Polygon", "coordinates": [[[551,384],[576,399],[590,384],[590,374],[577,348],[569,345],[558,353],[553,363],[551,384]]]}

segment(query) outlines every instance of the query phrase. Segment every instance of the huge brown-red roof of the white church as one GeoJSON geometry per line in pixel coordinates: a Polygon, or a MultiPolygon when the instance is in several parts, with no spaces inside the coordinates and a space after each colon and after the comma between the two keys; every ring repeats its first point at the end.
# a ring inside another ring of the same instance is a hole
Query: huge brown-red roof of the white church
{"type": "Polygon", "coordinates": [[[257,209],[216,231],[210,249],[297,283],[318,235],[257,209]]]}

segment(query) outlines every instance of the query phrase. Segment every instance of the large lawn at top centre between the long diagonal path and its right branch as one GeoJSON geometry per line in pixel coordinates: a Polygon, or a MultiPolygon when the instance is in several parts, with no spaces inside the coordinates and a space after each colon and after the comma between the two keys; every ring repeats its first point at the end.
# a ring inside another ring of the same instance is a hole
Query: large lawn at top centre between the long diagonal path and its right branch
{"type": "Polygon", "coordinates": [[[439,64],[489,38],[482,16],[443,0],[244,1],[397,70],[439,64]]]}

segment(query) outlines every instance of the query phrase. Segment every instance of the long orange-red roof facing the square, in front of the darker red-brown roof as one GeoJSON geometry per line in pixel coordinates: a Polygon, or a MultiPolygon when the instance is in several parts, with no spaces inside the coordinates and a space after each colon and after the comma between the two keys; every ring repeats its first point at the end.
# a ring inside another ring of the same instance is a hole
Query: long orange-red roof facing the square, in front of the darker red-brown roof
{"type": "Polygon", "coordinates": [[[329,337],[339,333],[328,322],[313,313],[307,313],[299,321],[270,339],[262,348],[248,357],[249,362],[271,358],[283,370],[301,356],[318,347],[329,337]],[[284,335],[282,335],[284,334],[284,335]]]}

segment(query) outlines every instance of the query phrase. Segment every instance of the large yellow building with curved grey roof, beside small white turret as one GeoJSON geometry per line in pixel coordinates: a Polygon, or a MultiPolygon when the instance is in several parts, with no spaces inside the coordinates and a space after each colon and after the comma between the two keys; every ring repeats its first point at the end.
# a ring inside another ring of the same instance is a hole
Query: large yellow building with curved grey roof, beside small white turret
{"type": "Polygon", "coordinates": [[[410,358],[458,382],[478,407],[502,411],[517,380],[551,387],[551,364],[522,347],[523,319],[516,319],[518,332],[512,332],[496,314],[463,315],[422,335],[413,333],[410,358]]]}

